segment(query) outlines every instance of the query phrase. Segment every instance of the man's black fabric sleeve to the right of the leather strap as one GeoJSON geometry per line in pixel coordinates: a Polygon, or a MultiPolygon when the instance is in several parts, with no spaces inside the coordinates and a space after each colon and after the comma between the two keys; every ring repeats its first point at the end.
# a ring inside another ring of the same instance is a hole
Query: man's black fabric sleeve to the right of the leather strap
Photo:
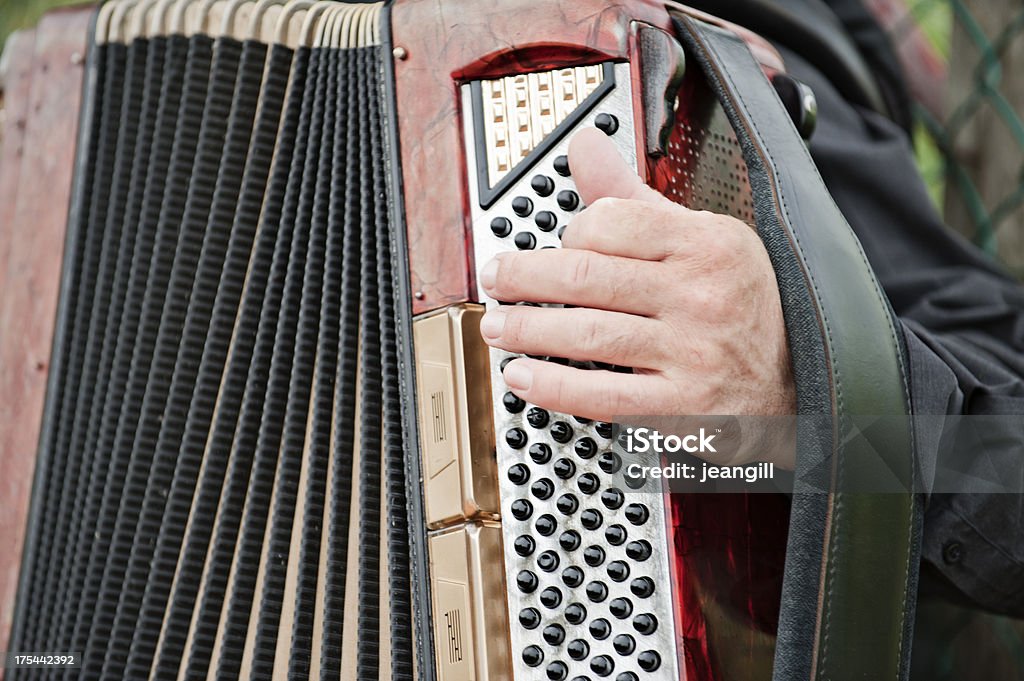
{"type": "MultiPolygon", "coordinates": [[[[900,318],[914,414],[1024,421],[1024,288],[942,223],[898,125],[848,103],[811,65],[782,51],[817,96],[812,156],[900,318]]],[[[915,434],[927,478],[943,461],[934,432],[915,434]]],[[[1000,476],[1024,480],[1019,438],[978,461],[997,461],[1000,476]]],[[[1024,614],[1022,529],[1019,494],[933,494],[925,574],[982,607],[1024,614]]]]}

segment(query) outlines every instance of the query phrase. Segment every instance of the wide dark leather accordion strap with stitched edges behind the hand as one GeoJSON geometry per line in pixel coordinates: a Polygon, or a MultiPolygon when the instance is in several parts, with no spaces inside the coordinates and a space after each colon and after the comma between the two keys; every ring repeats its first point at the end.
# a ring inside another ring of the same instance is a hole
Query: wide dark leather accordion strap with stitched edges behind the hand
{"type": "Polygon", "coordinates": [[[793,500],[774,678],[906,678],[921,509],[902,337],[746,46],[688,15],[676,22],[689,62],[703,70],[742,145],[797,381],[803,482],[793,500]]]}

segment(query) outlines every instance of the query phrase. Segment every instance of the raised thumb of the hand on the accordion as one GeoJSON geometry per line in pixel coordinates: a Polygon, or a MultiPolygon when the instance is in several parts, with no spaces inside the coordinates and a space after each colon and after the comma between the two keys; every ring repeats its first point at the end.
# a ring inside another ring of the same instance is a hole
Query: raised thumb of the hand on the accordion
{"type": "Polygon", "coordinates": [[[569,168],[585,204],[605,197],[656,203],[665,197],[644,184],[606,134],[584,128],[569,141],[569,168]]]}

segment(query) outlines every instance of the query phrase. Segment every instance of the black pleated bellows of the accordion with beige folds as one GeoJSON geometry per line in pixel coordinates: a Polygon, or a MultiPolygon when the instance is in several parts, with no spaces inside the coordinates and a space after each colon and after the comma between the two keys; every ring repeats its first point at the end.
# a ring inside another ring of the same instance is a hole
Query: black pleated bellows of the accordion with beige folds
{"type": "Polygon", "coordinates": [[[412,679],[380,48],[89,65],[10,678],[412,679]]]}

